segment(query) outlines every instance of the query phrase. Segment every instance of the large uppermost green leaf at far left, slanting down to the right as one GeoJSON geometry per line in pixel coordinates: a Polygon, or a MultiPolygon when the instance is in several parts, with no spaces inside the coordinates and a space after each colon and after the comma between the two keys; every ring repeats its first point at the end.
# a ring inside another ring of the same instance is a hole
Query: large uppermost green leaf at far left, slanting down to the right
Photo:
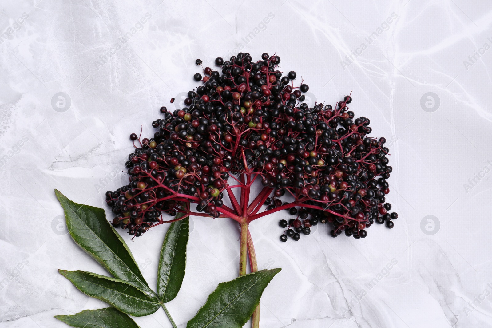
{"type": "Polygon", "coordinates": [[[73,240],[113,276],[151,292],[128,246],[106,220],[103,209],[72,202],[55,189],[73,240]]]}

